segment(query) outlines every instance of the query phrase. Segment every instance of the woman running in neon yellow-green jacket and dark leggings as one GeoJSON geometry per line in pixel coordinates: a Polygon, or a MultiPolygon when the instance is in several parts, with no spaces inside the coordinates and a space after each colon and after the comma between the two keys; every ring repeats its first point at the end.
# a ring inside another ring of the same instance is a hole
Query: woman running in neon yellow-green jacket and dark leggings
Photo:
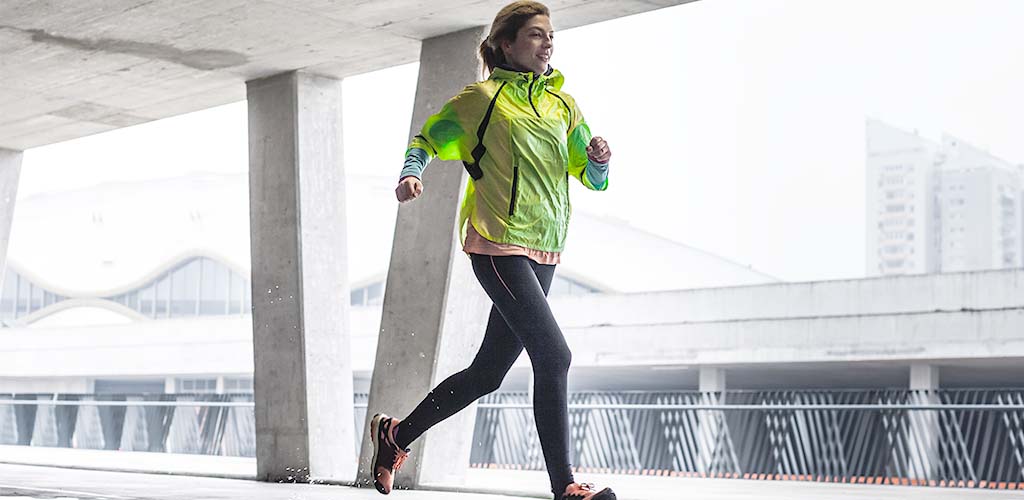
{"type": "Polygon", "coordinates": [[[571,353],[547,294],[569,221],[569,177],[607,185],[611,152],[590,128],[562,75],[549,66],[554,30],[548,8],[514,2],[495,17],[479,55],[489,78],[467,86],[427,119],[409,147],[395,195],[423,192],[432,158],[462,160],[471,180],[460,215],[463,249],[494,301],[469,368],[437,385],[403,420],[370,424],[374,486],[391,492],[409,445],[501,385],[526,349],[534,369],[534,415],[555,500],[614,500],[608,488],[573,481],[566,378],[571,353]]]}

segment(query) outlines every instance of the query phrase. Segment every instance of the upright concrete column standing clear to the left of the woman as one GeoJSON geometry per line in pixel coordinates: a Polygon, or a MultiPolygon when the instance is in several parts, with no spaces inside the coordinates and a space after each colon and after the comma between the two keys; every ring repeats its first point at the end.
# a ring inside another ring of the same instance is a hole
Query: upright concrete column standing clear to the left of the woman
{"type": "Polygon", "coordinates": [[[257,477],[351,482],[341,82],[247,87],[257,477]]]}

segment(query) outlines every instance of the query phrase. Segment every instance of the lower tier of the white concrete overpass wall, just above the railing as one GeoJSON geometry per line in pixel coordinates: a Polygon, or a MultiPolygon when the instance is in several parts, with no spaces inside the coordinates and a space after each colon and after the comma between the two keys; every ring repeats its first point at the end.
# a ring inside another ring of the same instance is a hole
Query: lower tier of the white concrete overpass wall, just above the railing
{"type": "MultiPolygon", "coordinates": [[[[596,309],[595,309],[596,310],[596,309]]],[[[565,329],[575,366],[1024,359],[1024,307],[565,329]],[[618,348],[629,338],[634,349],[618,348]]],[[[905,366],[905,365],[904,365],[905,366]]]]}

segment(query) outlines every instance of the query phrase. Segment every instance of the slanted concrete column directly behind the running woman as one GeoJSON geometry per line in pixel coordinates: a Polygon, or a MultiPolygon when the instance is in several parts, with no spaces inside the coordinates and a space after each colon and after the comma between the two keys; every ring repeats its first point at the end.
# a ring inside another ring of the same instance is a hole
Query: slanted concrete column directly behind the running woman
{"type": "MultiPolygon", "coordinates": [[[[481,28],[423,42],[410,137],[479,78],[476,47],[482,37],[481,28]]],[[[400,164],[393,168],[397,180],[400,164]]],[[[458,241],[465,178],[460,162],[434,161],[424,173],[423,195],[398,209],[368,418],[379,412],[404,418],[437,383],[469,366],[479,347],[489,301],[458,241]]],[[[462,483],[475,417],[471,405],[414,443],[396,488],[462,483]]],[[[362,442],[359,483],[372,484],[369,432],[362,442]]]]}

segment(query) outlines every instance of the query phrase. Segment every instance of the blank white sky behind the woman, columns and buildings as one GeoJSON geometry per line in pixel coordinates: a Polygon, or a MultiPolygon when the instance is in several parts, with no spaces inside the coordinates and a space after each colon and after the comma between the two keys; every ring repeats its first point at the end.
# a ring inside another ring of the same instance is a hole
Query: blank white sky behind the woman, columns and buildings
{"type": "MultiPolygon", "coordinates": [[[[552,65],[613,151],[573,204],[786,280],[863,276],[865,118],[1024,163],[1022,22],[1020,0],[702,0],[561,32],[552,65]]],[[[344,82],[348,173],[397,175],[417,71],[344,82]]],[[[245,172],[245,114],[31,150],[18,198],[245,172]]]]}

